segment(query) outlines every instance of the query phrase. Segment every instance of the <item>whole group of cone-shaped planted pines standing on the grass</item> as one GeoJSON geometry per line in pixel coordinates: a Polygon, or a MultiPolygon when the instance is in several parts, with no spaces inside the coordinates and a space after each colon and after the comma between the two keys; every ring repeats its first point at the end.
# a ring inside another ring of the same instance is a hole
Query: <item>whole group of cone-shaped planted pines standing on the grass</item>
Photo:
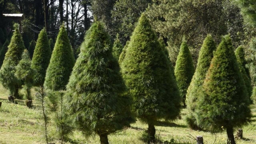
{"type": "Polygon", "coordinates": [[[124,48],[118,38],[113,47],[105,27],[96,21],[86,32],[76,62],[64,27],[53,52],[45,30],[39,34],[32,61],[32,53],[24,49],[16,30],[0,81],[15,97],[22,86],[28,99],[32,86],[51,91],[47,105],[55,113],[62,141],[73,128],[70,119],[84,134],[95,133],[101,144],[108,144],[109,134],[129,127],[136,117],[148,124],[149,142],[155,142],[155,124],[163,118],[176,119],[183,103],[190,127],[212,132],[224,127],[229,142],[235,144],[233,129],[251,117],[252,88],[244,52],[238,48],[236,58],[229,36],[217,49],[207,36],[195,73],[185,38],[174,69],[164,42],[144,14],[124,48]]]}

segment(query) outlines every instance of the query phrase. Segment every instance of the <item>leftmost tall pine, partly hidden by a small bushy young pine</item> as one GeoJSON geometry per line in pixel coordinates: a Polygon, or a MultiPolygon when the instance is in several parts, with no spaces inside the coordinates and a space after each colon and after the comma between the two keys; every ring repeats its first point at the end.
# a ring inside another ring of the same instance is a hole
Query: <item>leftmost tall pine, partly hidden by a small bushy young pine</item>
{"type": "Polygon", "coordinates": [[[18,89],[21,88],[21,82],[15,76],[15,66],[21,60],[21,55],[24,49],[25,46],[21,34],[16,29],[0,69],[0,81],[2,85],[6,89],[9,89],[10,94],[16,98],[19,98],[18,89]]]}

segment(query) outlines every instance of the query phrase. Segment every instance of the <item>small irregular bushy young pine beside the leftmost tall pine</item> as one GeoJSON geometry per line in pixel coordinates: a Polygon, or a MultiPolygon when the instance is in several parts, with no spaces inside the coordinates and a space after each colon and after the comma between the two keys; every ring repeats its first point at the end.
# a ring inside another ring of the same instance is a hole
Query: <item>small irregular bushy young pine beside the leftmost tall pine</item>
{"type": "Polygon", "coordinates": [[[32,100],[31,87],[35,73],[36,71],[31,68],[31,59],[28,50],[25,49],[22,53],[22,59],[16,66],[15,76],[24,83],[23,88],[26,90],[27,100],[32,100]]]}

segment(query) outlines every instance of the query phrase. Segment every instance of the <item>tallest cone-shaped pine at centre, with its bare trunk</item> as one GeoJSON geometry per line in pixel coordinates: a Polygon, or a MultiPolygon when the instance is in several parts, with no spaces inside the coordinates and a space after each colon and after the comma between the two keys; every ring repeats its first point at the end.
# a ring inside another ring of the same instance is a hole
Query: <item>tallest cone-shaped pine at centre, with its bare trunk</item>
{"type": "Polygon", "coordinates": [[[166,54],[145,14],[131,36],[121,71],[134,100],[133,111],[148,124],[149,140],[154,142],[157,120],[175,119],[180,113],[181,97],[166,54]]]}

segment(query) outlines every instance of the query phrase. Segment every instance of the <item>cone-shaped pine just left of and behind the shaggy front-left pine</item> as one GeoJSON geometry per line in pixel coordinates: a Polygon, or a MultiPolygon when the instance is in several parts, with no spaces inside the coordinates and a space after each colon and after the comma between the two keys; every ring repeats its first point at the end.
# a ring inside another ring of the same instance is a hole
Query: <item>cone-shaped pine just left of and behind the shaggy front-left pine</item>
{"type": "Polygon", "coordinates": [[[57,41],[46,71],[44,86],[53,91],[65,90],[75,58],[64,26],[60,27],[57,41]]]}

